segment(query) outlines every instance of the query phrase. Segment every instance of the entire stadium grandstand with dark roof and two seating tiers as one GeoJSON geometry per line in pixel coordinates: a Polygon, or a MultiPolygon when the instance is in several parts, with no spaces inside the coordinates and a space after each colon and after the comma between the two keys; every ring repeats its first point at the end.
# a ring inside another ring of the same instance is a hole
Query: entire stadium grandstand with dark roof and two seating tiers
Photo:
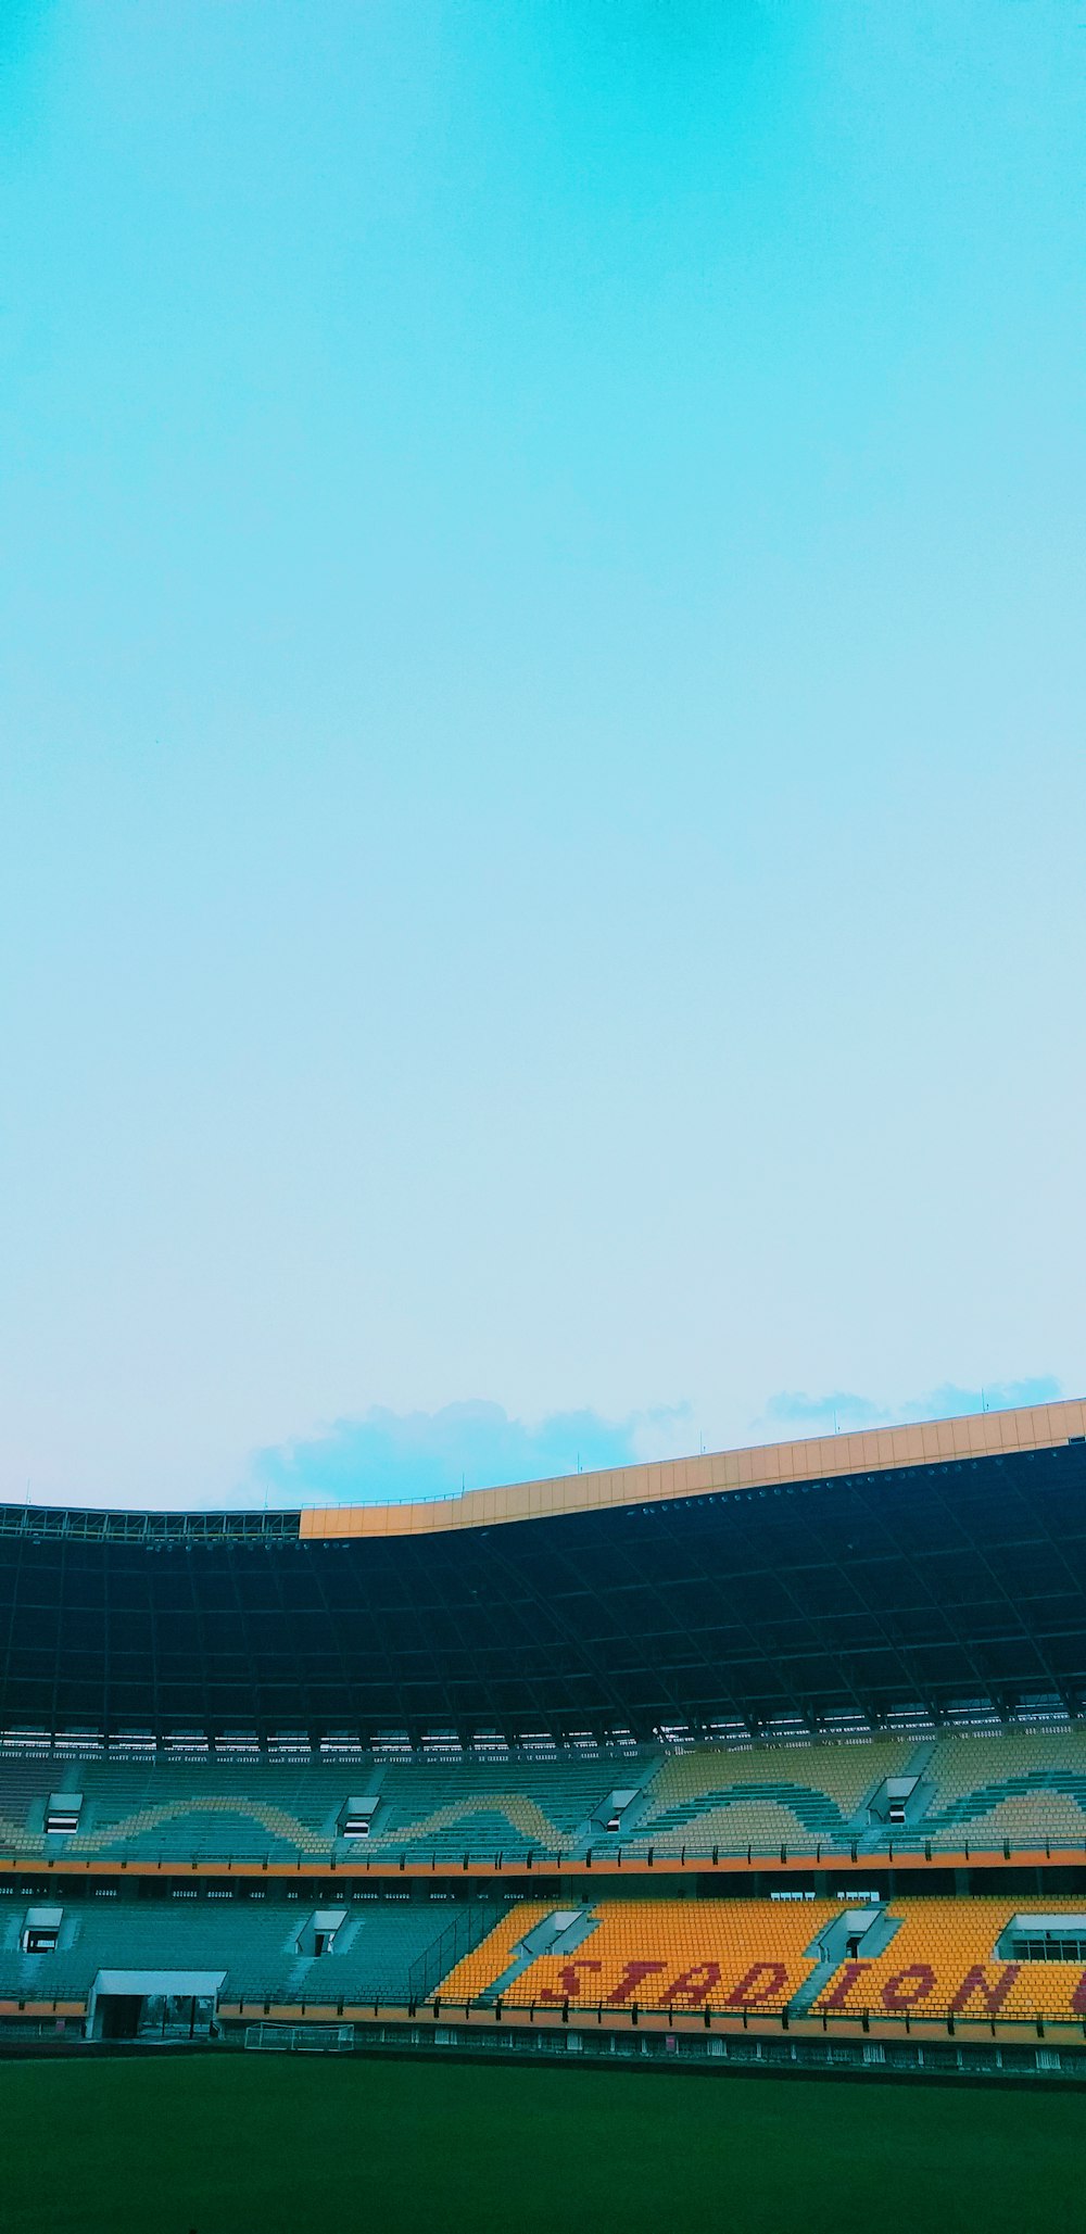
{"type": "Polygon", "coordinates": [[[1086,2075],[1086,1405],[0,1508],[0,2037],[1086,2075]]]}

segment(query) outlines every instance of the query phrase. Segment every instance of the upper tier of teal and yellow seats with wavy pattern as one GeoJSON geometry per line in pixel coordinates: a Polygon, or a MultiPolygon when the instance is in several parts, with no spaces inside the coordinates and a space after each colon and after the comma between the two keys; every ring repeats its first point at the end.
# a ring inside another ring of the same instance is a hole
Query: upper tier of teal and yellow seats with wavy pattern
{"type": "Polygon", "coordinates": [[[789,1856],[970,1852],[983,1848],[1086,1852],[1086,1727],[972,1736],[874,1738],[688,1751],[556,1751],[498,1758],[326,1760],[304,1756],[69,1760],[0,1758],[0,1861],[107,1863],[177,1870],[235,1863],[494,1868],[592,1850],[623,1859],[708,1861],[751,1852],[789,1856]],[[874,1821],[885,1778],[914,1780],[907,1821],[874,1821]],[[83,1794],[74,1834],[47,1834],[54,1792],[83,1794]],[[606,1830],[608,1796],[635,1792],[606,1830]],[[344,1839],[349,1796],[375,1798],[369,1836],[344,1839]]]}

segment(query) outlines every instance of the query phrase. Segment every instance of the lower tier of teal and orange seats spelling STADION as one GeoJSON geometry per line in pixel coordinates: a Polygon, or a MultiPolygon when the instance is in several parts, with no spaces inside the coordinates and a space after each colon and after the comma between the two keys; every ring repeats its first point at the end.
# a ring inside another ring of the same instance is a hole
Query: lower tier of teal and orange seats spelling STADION
{"type": "MultiPolygon", "coordinates": [[[[85,2006],[103,1973],[199,1973],[219,2004],[485,2002],[1086,2024],[1086,1897],[0,1901],[0,2011],[85,2006]]],[[[101,1988],[105,1990],[105,1988],[101,1988]]],[[[109,1988],[114,1993],[121,1986],[109,1988]]],[[[141,1993],[156,1990],[150,1984],[141,1993]]],[[[170,1988],[161,1988],[170,1990],[170,1988]]]]}

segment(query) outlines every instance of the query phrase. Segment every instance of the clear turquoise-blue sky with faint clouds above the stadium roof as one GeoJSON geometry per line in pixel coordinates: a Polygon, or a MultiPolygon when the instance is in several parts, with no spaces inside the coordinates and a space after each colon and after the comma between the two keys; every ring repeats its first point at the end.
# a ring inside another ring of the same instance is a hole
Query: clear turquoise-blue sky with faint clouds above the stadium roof
{"type": "Polygon", "coordinates": [[[1084,1387],[1084,69],[4,9],[2,1495],[1084,1387]]]}

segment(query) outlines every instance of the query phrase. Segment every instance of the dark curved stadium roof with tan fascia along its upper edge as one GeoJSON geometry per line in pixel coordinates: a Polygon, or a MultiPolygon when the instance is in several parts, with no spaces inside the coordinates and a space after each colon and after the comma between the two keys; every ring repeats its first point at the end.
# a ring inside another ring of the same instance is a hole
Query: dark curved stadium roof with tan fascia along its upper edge
{"type": "Polygon", "coordinates": [[[0,1508],[7,1729],[563,1740],[1084,1707],[1084,1403],[445,1503],[0,1508]]]}

